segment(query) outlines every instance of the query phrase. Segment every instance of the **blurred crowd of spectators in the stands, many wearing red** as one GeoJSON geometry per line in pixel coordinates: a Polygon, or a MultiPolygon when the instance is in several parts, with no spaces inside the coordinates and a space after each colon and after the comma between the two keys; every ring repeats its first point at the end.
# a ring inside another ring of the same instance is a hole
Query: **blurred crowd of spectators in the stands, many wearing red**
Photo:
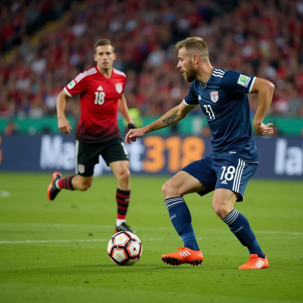
{"type": "MultiPolygon", "coordinates": [[[[303,2],[16,0],[1,2],[0,10],[3,52],[19,44],[10,60],[1,56],[0,116],[55,115],[57,94],[95,65],[93,45],[100,38],[115,44],[114,67],[127,75],[129,107],[161,115],[189,87],[177,68],[175,43],[197,35],[207,42],[212,65],[275,84],[269,114],[303,117],[303,2]],[[32,42],[46,19],[60,17],[32,42]]],[[[257,98],[249,95],[252,115],[257,98]]],[[[66,112],[79,115],[78,97],[69,99],[66,112]]]]}

